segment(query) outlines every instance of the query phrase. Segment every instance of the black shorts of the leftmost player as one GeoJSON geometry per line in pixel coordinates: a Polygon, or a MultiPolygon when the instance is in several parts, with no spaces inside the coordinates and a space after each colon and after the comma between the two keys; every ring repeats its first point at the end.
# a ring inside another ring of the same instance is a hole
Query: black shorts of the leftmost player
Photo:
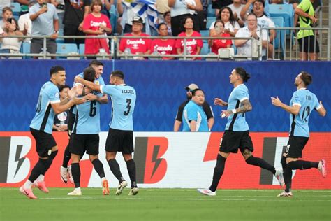
{"type": "Polygon", "coordinates": [[[44,131],[37,131],[30,128],[32,136],[36,140],[36,150],[39,157],[49,157],[52,154],[52,148],[57,145],[52,134],[44,131]]]}

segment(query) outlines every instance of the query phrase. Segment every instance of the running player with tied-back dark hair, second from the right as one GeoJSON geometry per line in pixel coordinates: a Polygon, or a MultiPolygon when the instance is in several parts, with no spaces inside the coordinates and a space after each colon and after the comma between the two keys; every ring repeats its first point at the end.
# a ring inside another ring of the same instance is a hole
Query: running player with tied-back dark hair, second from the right
{"type": "Polygon", "coordinates": [[[237,67],[233,69],[230,74],[230,83],[235,88],[229,96],[228,103],[219,98],[214,99],[214,104],[228,106],[228,109],[223,110],[221,113],[221,117],[227,117],[228,122],[221,140],[221,146],[219,147],[212,185],[209,189],[198,189],[198,192],[201,194],[216,196],[216,188],[223,175],[226,159],[230,155],[230,152],[236,153],[238,148],[242,152],[242,156],[247,164],[267,169],[274,174],[281,186],[284,185],[281,169],[275,169],[274,166],[265,162],[264,159],[253,157],[252,155],[253,143],[249,136],[249,125],[245,119],[245,113],[252,109],[251,102],[249,102],[248,88],[244,85],[249,78],[249,73],[243,68],[237,67]]]}

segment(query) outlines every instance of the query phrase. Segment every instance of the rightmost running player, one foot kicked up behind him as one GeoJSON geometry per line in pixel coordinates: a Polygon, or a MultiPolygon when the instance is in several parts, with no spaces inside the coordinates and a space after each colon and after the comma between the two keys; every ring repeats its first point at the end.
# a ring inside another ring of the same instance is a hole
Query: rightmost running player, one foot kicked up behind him
{"type": "Polygon", "coordinates": [[[290,106],[281,102],[278,97],[272,97],[274,106],[283,108],[290,113],[290,138],[286,150],[281,157],[281,166],[283,166],[284,180],[286,188],[277,197],[292,197],[290,191],[292,184],[293,169],[311,169],[316,168],[321,171],[323,178],[326,177],[326,162],[322,159],[320,162],[309,162],[299,160],[302,157],[302,150],[309,140],[309,116],[312,110],[317,110],[318,114],[324,117],[326,110],[322,101],[318,103],[316,95],[307,90],[311,84],[312,76],[301,71],[295,78],[294,85],[297,91],[293,93],[290,99],[290,106]]]}

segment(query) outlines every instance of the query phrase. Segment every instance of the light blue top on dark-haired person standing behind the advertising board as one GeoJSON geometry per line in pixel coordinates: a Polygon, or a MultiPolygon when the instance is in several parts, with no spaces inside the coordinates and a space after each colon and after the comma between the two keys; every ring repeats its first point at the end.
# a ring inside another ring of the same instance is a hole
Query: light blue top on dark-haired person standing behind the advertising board
{"type": "Polygon", "coordinates": [[[207,132],[208,120],[203,106],[196,104],[194,101],[189,101],[183,110],[183,131],[191,131],[191,120],[196,121],[196,132],[207,132]]]}

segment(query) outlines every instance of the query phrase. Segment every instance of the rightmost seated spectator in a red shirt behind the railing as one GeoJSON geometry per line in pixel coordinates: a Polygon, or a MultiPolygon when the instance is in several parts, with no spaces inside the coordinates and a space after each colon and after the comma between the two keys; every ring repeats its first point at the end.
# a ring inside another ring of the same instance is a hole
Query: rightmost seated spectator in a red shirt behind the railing
{"type": "MultiPolygon", "coordinates": [[[[214,30],[215,34],[211,37],[230,37],[230,34],[224,33],[224,22],[221,20],[216,20],[214,30]]],[[[230,39],[209,39],[208,45],[212,48],[212,52],[218,55],[219,48],[230,48],[232,41],[230,39]]]]}

